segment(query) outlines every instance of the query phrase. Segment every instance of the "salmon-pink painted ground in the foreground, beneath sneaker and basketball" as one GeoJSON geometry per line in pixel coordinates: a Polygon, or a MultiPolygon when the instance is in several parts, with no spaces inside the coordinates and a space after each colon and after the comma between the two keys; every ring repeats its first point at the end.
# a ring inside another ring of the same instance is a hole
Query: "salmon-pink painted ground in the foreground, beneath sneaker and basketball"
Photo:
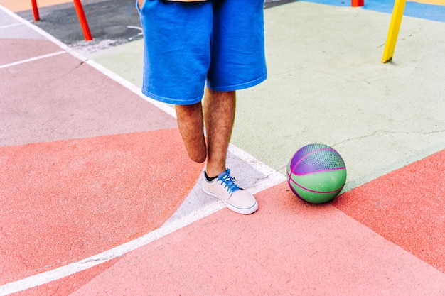
{"type": "Polygon", "coordinates": [[[73,295],[443,295],[443,273],[331,205],[304,204],[286,183],[256,197],[257,214],[208,216],[73,295]]]}

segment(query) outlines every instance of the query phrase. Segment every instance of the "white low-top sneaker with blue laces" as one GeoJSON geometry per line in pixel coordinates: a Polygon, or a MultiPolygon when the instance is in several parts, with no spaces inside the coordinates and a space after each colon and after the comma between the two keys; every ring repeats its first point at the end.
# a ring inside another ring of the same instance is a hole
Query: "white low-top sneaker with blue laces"
{"type": "Polygon", "coordinates": [[[239,214],[252,214],[257,211],[257,200],[247,190],[240,188],[235,178],[230,176],[230,170],[221,172],[218,177],[208,181],[203,175],[203,190],[205,193],[221,199],[227,208],[239,214]]]}

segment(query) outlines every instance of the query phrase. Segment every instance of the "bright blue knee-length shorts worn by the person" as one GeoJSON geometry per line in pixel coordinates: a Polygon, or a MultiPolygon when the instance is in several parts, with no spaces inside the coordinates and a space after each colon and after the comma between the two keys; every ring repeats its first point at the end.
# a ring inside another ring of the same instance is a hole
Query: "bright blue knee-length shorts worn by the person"
{"type": "Polygon", "coordinates": [[[267,77],[264,0],[145,0],[142,92],[168,104],[200,102],[205,83],[220,92],[267,77]]]}

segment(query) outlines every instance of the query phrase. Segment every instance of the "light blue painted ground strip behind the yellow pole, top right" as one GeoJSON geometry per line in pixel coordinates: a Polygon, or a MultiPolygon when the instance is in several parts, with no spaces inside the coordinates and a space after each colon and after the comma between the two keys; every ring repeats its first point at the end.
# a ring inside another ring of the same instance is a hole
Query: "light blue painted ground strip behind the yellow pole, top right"
{"type": "MultiPolygon", "coordinates": [[[[350,6],[347,0],[303,0],[317,4],[326,4],[333,6],[350,6]]],[[[370,11],[378,11],[382,13],[392,13],[394,1],[388,0],[365,0],[363,9],[370,11]]],[[[404,9],[404,16],[412,16],[414,18],[424,18],[430,21],[441,21],[445,23],[445,6],[434,4],[422,4],[407,1],[404,9]]]]}

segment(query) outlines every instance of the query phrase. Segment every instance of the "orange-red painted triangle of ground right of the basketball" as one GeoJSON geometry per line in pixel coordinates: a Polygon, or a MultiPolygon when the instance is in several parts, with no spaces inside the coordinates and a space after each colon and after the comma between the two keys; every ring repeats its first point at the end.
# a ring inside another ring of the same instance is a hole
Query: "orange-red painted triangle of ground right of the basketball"
{"type": "Polygon", "coordinates": [[[333,205],[445,273],[445,150],[342,194],[333,205]]]}

